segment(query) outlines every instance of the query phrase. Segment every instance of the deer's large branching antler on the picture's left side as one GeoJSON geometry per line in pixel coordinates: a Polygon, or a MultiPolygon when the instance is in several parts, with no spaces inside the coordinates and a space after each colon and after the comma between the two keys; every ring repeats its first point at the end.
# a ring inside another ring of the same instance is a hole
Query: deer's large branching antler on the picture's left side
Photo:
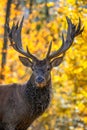
{"type": "Polygon", "coordinates": [[[32,60],[36,60],[36,57],[29,52],[28,47],[26,47],[27,51],[24,51],[22,48],[21,30],[23,26],[23,21],[24,21],[24,17],[22,18],[20,24],[19,22],[17,22],[16,25],[13,23],[13,26],[11,29],[9,26],[7,26],[7,32],[8,32],[10,42],[11,42],[11,46],[17,52],[23,54],[24,56],[31,58],[32,60]]]}

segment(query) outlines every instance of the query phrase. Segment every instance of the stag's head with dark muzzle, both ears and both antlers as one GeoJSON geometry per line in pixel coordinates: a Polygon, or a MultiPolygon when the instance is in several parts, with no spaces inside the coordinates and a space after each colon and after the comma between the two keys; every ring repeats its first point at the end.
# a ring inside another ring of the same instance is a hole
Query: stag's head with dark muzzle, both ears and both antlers
{"type": "Polygon", "coordinates": [[[23,54],[25,57],[19,56],[20,61],[23,65],[30,67],[33,71],[34,81],[39,87],[43,87],[50,80],[50,71],[53,67],[58,66],[62,61],[65,52],[70,48],[73,43],[73,40],[76,36],[82,33],[83,28],[81,29],[81,20],[79,18],[78,26],[75,26],[71,20],[66,17],[68,23],[68,30],[66,40],[64,40],[64,36],[62,34],[62,45],[53,53],[51,52],[52,42],[50,42],[50,46],[48,52],[46,54],[46,58],[43,60],[37,59],[33,54],[30,53],[28,47],[26,47],[26,51],[23,50],[22,41],[21,41],[21,30],[23,26],[22,18],[20,24],[16,25],[13,23],[12,28],[7,27],[9,39],[11,42],[11,46],[19,53],[23,54]],[[60,56],[62,54],[62,56],[60,56]]]}

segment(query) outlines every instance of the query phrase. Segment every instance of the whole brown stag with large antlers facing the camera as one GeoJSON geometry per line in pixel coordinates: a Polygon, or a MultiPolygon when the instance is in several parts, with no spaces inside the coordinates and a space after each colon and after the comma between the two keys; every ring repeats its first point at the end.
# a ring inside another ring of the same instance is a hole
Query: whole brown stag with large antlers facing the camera
{"type": "Polygon", "coordinates": [[[62,45],[52,53],[51,41],[43,60],[31,54],[28,46],[26,50],[22,47],[24,17],[20,23],[13,24],[12,28],[7,26],[12,48],[23,55],[19,56],[19,60],[24,66],[32,69],[32,74],[24,84],[0,85],[0,130],[26,130],[48,108],[52,92],[51,70],[60,65],[74,38],[83,32],[80,18],[78,25],[74,25],[68,17],[66,20],[66,40],[62,33],[62,45]]]}

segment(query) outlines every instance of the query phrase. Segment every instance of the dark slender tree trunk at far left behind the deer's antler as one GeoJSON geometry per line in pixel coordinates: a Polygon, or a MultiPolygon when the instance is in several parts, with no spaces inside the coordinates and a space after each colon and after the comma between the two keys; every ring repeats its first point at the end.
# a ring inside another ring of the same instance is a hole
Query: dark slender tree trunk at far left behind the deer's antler
{"type": "Polygon", "coordinates": [[[12,3],[12,0],[7,1],[6,17],[5,17],[5,24],[4,24],[4,42],[3,42],[3,48],[2,48],[2,62],[1,62],[1,75],[0,75],[1,79],[4,79],[4,77],[5,77],[3,71],[4,71],[4,66],[6,65],[6,56],[7,56],[7,31],[6,31],[6,25],[7,25],[7,23],[9,24],[11,3],[12,3]]]}

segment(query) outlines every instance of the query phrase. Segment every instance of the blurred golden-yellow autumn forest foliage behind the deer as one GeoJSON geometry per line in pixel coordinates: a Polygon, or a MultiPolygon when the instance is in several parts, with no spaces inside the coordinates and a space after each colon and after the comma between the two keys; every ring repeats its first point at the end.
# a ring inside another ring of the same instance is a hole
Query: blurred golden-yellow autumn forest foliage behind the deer
{"type": "Polygon", "coordinates": [[[29,130],[87,130],[87,0],[0,0],[0,83],[26,82],[31,70],[18,59],[7,40],[6,23],[20,21],[23,46],[43,59],[49,42],[52,51],[66,36],[66,16],[84,31],[67,51],[63,63],[52,70],[52,101],[49,108],[29,130]]]}

